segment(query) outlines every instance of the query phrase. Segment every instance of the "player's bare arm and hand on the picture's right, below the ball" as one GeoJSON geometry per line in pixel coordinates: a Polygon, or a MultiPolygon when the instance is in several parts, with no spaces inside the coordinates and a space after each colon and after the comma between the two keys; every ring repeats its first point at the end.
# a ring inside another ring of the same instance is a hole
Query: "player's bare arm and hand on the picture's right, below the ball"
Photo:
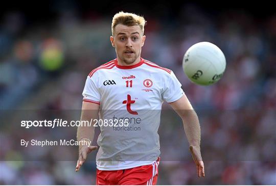
{"type": "Polygon", "coordinates": [[[197,175],[198,177],[204,177],[204,164],[200,153],[200,125],[197,114],[185,94],[178,100],[170,103],[170,105],[182,119],[184,130],[190,144],[189,150],[196,164],[197,175]]]}

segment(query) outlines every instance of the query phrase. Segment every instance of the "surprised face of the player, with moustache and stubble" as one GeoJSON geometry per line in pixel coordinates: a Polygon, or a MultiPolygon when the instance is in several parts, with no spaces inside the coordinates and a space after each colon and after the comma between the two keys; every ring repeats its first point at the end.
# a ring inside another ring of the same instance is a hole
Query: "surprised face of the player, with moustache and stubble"
{"type": "Polygon", "coordinates": [[[141,49],[146,36],[143,36],[139,25],[118,24],[115,26],[113,35],[114,37],[110,36],[110,41],[122,62],[130,65],[135,61],[140,61],[141,49]]]}

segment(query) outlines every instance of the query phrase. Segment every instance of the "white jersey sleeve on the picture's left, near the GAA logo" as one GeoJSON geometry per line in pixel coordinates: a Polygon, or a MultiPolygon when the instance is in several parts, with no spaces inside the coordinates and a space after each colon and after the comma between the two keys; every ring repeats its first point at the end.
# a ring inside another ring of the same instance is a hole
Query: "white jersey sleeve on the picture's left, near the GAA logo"
{"type": "Polygon", "coordinates": [[[99,92],[96,76],[87,76],[85,86],[82,92],[83,100],[88,102],[100,103],[101,95],[99,92]]]}

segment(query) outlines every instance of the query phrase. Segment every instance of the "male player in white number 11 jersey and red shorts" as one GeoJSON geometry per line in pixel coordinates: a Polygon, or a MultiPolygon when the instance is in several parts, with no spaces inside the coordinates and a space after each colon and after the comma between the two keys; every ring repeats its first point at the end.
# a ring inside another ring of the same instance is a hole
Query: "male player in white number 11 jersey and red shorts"
{"type": "MultiPolygon", "coordinates": [[[[164,100],[181,117],[197,175],[204,176],[199,121],[181,84],[170,69],[141,58],[145,23],[136,14],[114,15],[110,41],[117,58],[92,70],[86,79],[81,120],[99,121],[96,126],[101,129],[96,184],[157,184],[157,130],[164,100]]],[[[79,126],[77,140],[93,141],[94,130],[95,125],[79,126]]],[[[79,146],[76,171],[96,149],[79,146]]]]}

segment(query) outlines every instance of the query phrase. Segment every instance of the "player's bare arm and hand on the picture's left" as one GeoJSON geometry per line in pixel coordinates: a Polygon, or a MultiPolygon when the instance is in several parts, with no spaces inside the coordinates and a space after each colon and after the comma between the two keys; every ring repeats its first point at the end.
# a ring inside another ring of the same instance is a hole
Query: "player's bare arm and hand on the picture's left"
{"type": "MultiPolygon", "coordinates": [[[[90,121],[91,119],[98,119],[100,105],[93,102],[82,102],[81,121],[90,121]]],[[[93,141],[95,135],[95,127],[91,126],[79,126],[77,130],[78,141],[93,141]]],[[[81,143],[80,143],[81,144],[81,143]]],[[[85,162],[87,154],[93,150],[96,150],[97,146],[79,146],[79,159],[76,166],[76,171],[79,171],[82,164],[85,162]]]]}

